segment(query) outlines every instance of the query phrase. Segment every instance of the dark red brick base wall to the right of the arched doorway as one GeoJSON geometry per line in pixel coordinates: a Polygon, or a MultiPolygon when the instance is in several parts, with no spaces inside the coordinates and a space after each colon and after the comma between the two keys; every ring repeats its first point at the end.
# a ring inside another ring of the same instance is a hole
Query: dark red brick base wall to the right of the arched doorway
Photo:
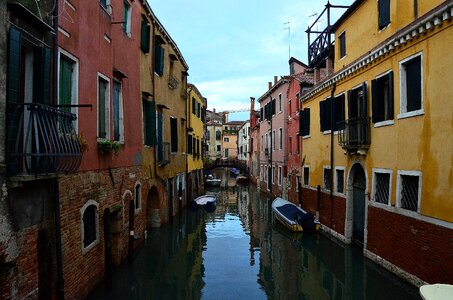
{"type": "Polygon", "coordinates": [[[451,229],[368,206],[367,248],[424,281],[453,284],[451,229]]]}

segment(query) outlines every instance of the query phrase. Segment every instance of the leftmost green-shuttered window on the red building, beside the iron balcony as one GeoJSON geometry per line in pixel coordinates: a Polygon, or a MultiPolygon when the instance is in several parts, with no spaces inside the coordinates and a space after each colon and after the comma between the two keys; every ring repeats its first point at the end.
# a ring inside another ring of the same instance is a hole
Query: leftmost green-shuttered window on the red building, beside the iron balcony
{"type": "MultiPolygon", "coordinates": [[[[69,53],[62,53],[60,50],[60,74],[58,83],[58,104],[59,105],[77,105],[78,96],[78,63],[77,59],[69,53]]],[[[61,107],[65,112],[77,114],[76,107],[61,107]]],[[[77,122],[74,122],[77,125],[77,122]]],[[[77,126],[75,126],[77,130],[77,126]]]]}

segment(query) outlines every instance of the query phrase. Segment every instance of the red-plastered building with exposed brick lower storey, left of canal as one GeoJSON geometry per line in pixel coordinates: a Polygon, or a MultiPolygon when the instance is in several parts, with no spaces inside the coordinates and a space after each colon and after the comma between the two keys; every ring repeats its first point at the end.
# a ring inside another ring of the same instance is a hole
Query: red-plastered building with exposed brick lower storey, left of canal
{"type": "Polygon", "coordinates": [[[59,104],[71,105],[87,146],[79,172],[58,182],[67,298],[86,296],[109,261],[119,264],[144,238],[142,9],[127,0],[66,1],[60,8],[59,104]]]}

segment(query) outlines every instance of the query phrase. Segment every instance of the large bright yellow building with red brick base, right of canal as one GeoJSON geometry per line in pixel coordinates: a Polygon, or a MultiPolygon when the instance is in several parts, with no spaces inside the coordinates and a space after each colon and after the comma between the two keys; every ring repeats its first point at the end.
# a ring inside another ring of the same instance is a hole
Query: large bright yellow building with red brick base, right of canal
{"type": "Polygon", "coordinates": [[[453,283],[452,8],[355,1],[309,45],[327,79],[301,98],[304,206],[416,285],[453,283]]]}

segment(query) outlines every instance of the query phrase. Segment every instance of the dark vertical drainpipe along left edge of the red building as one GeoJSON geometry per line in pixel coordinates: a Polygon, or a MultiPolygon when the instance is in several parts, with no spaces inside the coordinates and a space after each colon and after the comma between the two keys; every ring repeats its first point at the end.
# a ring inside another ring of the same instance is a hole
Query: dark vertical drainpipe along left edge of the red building
{"type": "MultiPolygon", "coordinates": [[[[53,66],[52,66],[52,100],[53,104],[58,103],[58,1],[55,1],[53,10],[53,66]]],[[[57,264],[57,298],[64,299],[64,277],[63,277],[63,255],[61,248],[61,223],[60,223],[60,194],[58,180],[54,186],[54,218],[55,218],[55,247],[56,247],[56,264],[57,264]]]]}

